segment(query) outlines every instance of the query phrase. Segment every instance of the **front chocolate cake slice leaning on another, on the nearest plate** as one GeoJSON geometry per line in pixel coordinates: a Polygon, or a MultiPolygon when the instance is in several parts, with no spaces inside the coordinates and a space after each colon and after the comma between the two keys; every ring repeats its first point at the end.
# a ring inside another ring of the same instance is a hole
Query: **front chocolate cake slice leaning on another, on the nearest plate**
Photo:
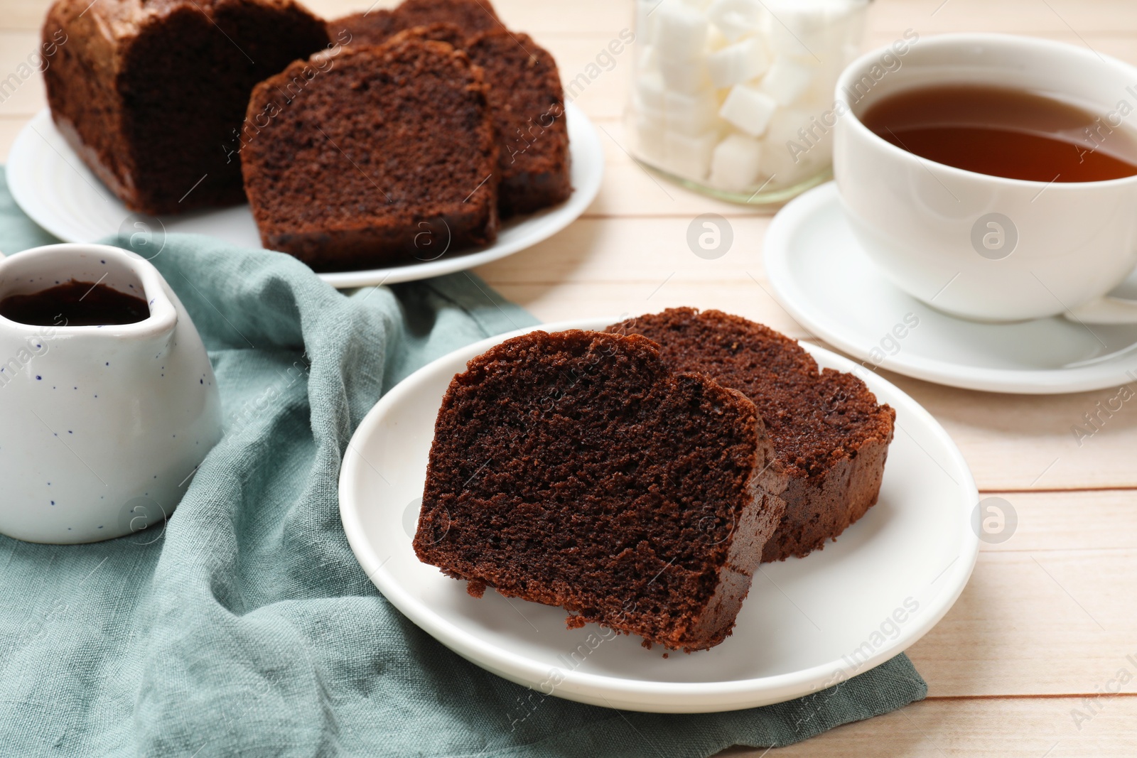
{"type": "Polygon", "coordinates": [[[640,336],[507,340],[450,383],[415,552],[446,574],[672,649],[735,624],[785,477],[754,403],[640,336]]]}

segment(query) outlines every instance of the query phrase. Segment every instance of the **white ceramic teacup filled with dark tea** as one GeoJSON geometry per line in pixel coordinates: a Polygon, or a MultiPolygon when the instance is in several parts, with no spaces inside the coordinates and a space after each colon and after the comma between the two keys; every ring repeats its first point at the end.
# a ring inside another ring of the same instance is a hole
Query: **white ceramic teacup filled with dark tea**
{"type": "Polygon", "coordinates": [[[990,84],[1053,93],[1101,116],[1101,139],[1131,140],[1137,67],[1003,34],[904,47],[866,53],[837,83],[848,113],[836,127],[833,173],[868,255],[898,288],[955,316],[1137,322],[1137,302],[1106,297],[1137,266],[1137,176],[1046,183],[978,174],[920,158],[860,120],[903,90],[990,84]]]}

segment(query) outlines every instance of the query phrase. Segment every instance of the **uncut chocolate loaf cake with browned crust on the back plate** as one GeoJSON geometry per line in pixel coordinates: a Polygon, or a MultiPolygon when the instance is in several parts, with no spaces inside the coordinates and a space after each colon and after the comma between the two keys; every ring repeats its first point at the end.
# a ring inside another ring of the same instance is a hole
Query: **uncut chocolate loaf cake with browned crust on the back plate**
{"type": "Polygon", "coordinates": [[[242,202],[249,93],[329,43],[291,0],[58,0],[43,39],[66,40],[43,72],[56,126],[149,214],[242,202]]]}

